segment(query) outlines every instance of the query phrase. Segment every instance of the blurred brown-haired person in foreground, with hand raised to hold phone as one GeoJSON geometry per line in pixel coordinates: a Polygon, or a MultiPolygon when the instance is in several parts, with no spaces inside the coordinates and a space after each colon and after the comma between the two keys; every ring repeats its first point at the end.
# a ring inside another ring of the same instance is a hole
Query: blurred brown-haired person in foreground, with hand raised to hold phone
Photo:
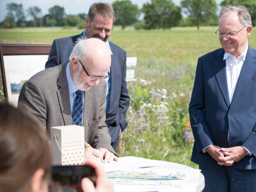
{"type": "MultiPolygon", "coordinates": [[[[0,104],[0,191],[47,192],[51,182],[51,145],[45,129],[27,111],[0,104]]],[[[113,191],[113,183],[97,159],[85,162],[95,168],[96,187],[84,178],[84,192],[113,191]],[[96,161],[95,161],[96,160],[96,161]]]]}

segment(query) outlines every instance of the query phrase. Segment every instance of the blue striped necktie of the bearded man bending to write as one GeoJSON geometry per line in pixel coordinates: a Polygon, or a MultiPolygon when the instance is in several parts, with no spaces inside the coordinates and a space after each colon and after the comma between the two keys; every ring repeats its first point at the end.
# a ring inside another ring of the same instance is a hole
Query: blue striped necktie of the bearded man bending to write
{"type": "Polygon", "coordinates": [[[83,100],[82,100],[82,91],[78,90],[76,92],[76,99],[72,111],[73,125],[82,126],[82,115],[83,115],[83,100]]]}

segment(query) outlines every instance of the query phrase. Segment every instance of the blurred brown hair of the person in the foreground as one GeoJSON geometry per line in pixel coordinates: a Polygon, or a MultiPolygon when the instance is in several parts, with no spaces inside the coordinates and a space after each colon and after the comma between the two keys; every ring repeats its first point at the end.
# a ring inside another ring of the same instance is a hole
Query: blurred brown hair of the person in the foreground
{"type": "Polygon", "coordinates": [[[0,104],[0,191],[31,191],[38,168],[48,180],[51,145],[45,129],[27,111],[0,104]]]}

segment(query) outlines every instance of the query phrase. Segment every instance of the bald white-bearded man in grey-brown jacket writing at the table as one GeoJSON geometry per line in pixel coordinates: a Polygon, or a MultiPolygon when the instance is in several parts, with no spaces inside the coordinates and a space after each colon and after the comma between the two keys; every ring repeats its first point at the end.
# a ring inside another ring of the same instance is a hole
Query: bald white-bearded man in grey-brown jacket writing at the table
{"type": "Polygon", "coordinates": [[[82,125],[84,140],[93,147],[88,150],[106,162],[117,161],[105,123],[107,85],[102,81],[111,65],[109,49],[97,38],[79,40],[69,60],[26,81],[18,107],[24,103],[48,132],[55,126],[82,125]]]}

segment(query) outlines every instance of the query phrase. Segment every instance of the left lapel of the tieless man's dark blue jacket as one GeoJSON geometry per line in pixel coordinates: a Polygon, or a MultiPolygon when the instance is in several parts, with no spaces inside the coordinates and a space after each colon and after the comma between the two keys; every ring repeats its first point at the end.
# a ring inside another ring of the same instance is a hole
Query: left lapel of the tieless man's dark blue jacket
{"type": "Polygon", "coordinates": [[[216,81],[220,88],[223,99],[225,100],[227,107],[229,106],[228,87],[227,87],[227,72],[226,72],[226,61],[223,60],[224,50],[220,49],[216,53],[216,59],[212,62],[212,68],[216,77],[216,81]]]}

